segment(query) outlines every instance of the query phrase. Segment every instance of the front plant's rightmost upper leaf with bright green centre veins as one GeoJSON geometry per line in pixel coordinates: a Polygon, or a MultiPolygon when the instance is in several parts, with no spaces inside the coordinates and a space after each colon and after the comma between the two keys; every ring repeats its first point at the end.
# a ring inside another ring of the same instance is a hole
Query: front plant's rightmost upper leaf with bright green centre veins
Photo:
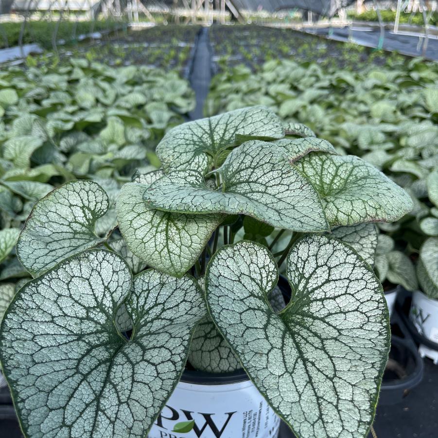
{"type": "Polygon", "coordinates": [[[296,165],[320,194],[331,225],[394,222],[412,210],[410,196],[360,158],[313,153],[296,165]]]}

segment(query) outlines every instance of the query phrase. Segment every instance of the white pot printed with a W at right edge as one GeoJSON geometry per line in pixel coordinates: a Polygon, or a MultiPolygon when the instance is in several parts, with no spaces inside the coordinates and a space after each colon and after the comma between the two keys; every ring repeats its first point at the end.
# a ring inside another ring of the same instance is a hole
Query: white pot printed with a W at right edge
{"type": "Polygon", "coordinates": [[[422,292],[412,294],[409,318],[418,332],[438,344],[438,301],[426,297],[422,292]]]}

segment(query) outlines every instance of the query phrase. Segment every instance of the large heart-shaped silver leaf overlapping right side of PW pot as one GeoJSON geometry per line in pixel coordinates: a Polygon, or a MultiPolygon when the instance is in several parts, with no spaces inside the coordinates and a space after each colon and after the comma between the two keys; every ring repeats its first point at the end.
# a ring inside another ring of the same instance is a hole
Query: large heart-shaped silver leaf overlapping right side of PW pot
{"type": "Polygon", "coordinates": [[[272,255],[247,241],[223,246],[207,268],[209,313],[298,438],[365,437],[389,350],[382,286],[354,250],[322,235],[298,240],[287,275],[292,298],[276,314],[272,255]]]}

